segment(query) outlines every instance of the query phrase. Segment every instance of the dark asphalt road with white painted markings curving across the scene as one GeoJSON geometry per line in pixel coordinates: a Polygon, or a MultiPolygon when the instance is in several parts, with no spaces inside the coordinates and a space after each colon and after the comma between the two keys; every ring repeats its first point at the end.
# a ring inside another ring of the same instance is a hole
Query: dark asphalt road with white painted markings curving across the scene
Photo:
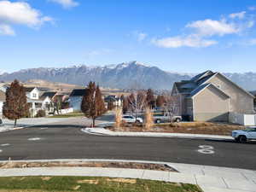
{"type": "Polygon", "coordinates": [[[9,157],[12,160],[157,160],[256,170],[256,143],[157,137],[101,137],[87,135],[80,131],[81,127],[67,121],[62,125],[42,125],[2,132],[0,160],[8,160],[9,157]],[[211,146],[210,153],[199,152],[201,145],[211,146]]]}

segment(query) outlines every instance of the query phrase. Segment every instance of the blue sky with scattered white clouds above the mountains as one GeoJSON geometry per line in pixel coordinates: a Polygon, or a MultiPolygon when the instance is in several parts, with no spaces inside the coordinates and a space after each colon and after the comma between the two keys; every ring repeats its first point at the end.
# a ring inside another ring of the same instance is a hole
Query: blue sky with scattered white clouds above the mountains
{"type": "Polygon", "coordinates": [[[254,0],[0,0],[0,70],[140,61],[256,72],[254,0]]]}

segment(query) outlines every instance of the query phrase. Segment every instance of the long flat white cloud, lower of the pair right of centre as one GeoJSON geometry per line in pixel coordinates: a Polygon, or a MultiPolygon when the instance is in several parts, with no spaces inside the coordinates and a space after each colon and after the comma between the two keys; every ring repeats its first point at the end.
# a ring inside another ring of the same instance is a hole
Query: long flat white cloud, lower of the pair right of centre
{"type": "Polygon", "coordinates": [[[179,47],[209,47],[213,44],[218,44],[217,41],[202,39],[200,37],[196,37],[195,35],[189,35],[187,37],[171,37],[171,38],[160,38],[153,39],[152,43],[156,46],[163,48],[179,48],[179,47]]]}

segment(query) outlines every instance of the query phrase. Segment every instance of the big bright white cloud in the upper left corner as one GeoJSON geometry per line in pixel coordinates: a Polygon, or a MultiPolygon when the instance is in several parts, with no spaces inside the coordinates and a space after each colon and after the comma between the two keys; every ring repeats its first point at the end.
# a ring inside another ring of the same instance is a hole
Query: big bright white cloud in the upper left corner
{"type": "Polygon", "coordinates": [[[52,21],[49,16],[43,16],[26,2],[0,1],[1,34],[15,35],[12,25],[23,25],[38,28],[44,22],[52,21]]]}

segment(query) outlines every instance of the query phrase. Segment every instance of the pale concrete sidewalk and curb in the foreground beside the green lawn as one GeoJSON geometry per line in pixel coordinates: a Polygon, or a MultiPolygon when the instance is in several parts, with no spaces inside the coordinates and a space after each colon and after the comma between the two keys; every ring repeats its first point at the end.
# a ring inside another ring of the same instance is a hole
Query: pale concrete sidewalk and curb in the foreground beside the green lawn
{"type": "MultiPolygon", "coordinates": [[[[30,162],[34,162],[31,160],[30,162]]],[[[60,160],[38,160],[60,161],[60,160]]],[[[68,161],[68,160],[61,160],[68,161]]],[[[196,166],[168,162],[140,160],[72,160],[72,161],[121,161],[158,163],[172,166],[178,172],[162,172],[141,169],[100,167],[42,167],[21,169],[0,169],[0,177],[13,176],[89,176],[129,177],[159,180],[172,183],[198,184],[204,192],[256,192],[256,171],[232,169],[218,166],[196,166]]],[[[3,161],[2,161],[3,162],[3,161]]],[[[24,162],[24,161],[23,161],[24,162]]]]}

